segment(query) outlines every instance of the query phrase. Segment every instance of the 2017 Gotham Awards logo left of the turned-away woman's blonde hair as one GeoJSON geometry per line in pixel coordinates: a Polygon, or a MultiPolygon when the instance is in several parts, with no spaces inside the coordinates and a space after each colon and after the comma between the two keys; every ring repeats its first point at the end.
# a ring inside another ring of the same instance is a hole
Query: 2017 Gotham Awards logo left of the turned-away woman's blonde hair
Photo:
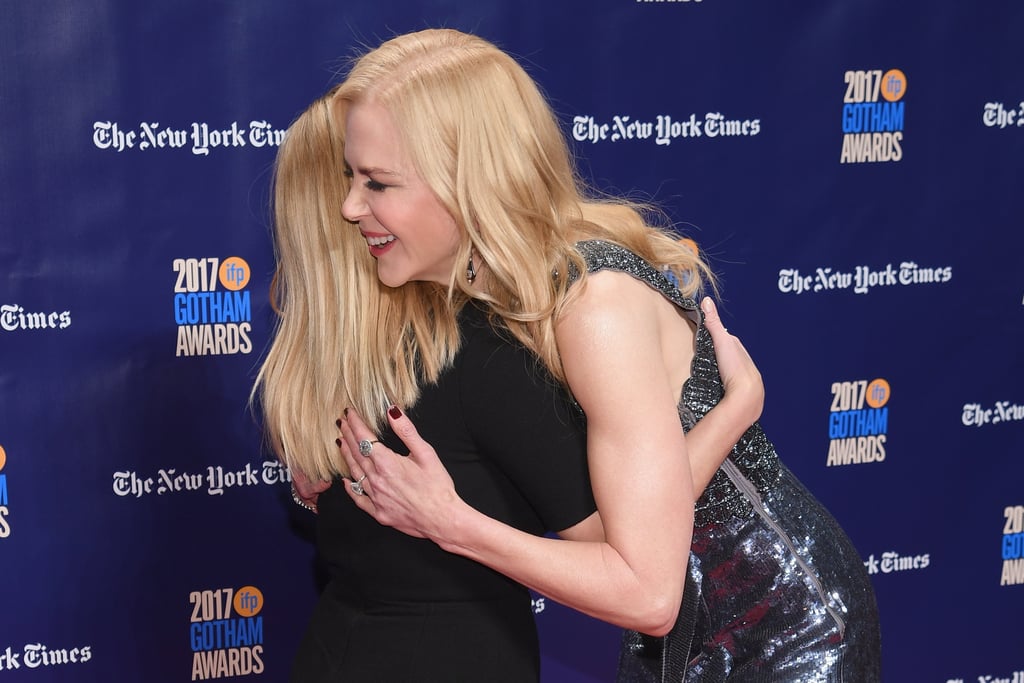
{"type": "Polygon", "coordinates": [[[252,302],[245,289],[251,271],[245,259],[176,258],[173,268],[175,355],[251,352],[252,302]]]}

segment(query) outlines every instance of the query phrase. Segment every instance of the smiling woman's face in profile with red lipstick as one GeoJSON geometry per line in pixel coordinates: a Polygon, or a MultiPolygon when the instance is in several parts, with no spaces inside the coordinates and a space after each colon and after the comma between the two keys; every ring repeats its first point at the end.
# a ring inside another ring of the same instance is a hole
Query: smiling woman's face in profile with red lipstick
{"type": "Polygon", "coordinates": [[[348,108],[345,164],[351,187],[342,214],[358,224],[377,259],[381,283],[400,287],[427,281],[446,286],[459,228],[413,168],[391,115],[380,104],[358,102],[348,108]]]}

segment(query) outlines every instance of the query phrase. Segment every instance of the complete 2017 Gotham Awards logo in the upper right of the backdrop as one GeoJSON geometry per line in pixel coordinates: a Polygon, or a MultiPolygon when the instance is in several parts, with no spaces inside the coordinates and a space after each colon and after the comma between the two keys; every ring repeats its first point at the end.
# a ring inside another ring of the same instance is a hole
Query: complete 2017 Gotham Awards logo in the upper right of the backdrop
{"type": "Polygon", "coordinates": [[[903,158],[903,95],[899,69],[848,71],[844,75],[841,164],[897,162],[903,158]]]}

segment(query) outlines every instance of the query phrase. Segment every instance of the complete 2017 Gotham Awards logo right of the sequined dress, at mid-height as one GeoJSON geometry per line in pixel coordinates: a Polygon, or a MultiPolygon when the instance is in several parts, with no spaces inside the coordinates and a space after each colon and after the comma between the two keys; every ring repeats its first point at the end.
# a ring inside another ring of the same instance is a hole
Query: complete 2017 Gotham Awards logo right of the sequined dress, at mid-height
{"type": "Polygon", "coordinates": [[[889,382],[834,382],[828,413],[827,467],[881,463],[889,431],[889,382]]]}

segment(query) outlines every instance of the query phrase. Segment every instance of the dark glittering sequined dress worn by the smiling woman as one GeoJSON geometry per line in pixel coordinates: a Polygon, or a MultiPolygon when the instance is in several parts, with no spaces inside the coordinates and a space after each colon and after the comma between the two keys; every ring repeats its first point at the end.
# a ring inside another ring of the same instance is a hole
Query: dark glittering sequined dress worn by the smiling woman
{"type": "MultiPolygon", "coordinates": [[[[577,249],[590,272],[630,273],[698,322],[679,405],[688,431],[723,395],[696,302],[625,249],[601,241],[577,249]]],[[[675,628],[660,638],[626,632],[617,680],[872,683],[880,663],[874,592],[859,554],[755,424],[696,502],[675,628]]]]}

